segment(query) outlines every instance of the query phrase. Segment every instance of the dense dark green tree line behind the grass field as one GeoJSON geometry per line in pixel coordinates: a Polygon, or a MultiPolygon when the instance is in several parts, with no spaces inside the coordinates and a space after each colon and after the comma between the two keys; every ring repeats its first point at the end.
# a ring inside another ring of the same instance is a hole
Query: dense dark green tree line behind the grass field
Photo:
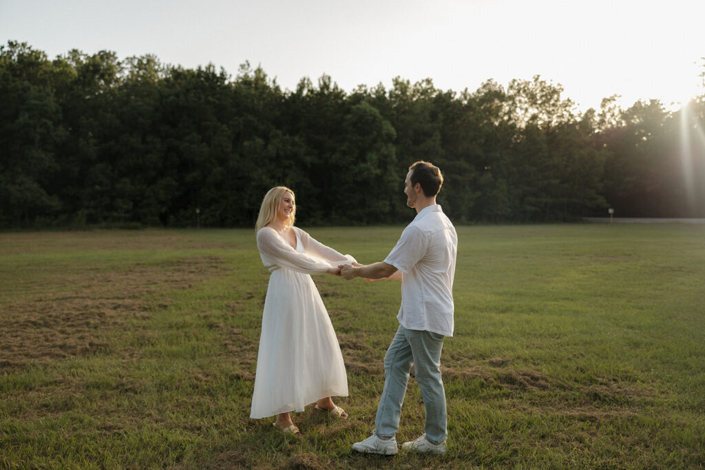
{"type": "Polygon", "coordinates": [[[535,76],[474,92],[432,80],[282,90],[152,55],[0,47],[0,227],[252,226],[291,187],[303,225],[408,221],[403,180],[431,161],[456,223],[705,217],[705,96],[675,112],[575,111],[535,76]]]}

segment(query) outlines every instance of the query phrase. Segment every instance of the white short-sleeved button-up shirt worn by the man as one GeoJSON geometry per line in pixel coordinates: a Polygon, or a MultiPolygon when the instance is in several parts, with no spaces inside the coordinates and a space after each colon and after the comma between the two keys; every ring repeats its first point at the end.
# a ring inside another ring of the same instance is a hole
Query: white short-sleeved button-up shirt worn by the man
{"type": "Polygon", "coordinates": [[[384,259],[402,272],[397,319],[408,330],[453,336],[458,234],[438,204],[422,209],[384,259]]]}

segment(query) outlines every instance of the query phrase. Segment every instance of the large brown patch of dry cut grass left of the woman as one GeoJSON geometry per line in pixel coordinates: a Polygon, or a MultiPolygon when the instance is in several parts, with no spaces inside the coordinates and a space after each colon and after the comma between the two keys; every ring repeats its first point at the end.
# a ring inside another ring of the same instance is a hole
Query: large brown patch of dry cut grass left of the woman
{"type": "Polygon", "coordinates": [[[0,372],[106,352],[110,331],[125,329],[129,317],[149,315],[147,296],[190,289],[225,269],[223,259],[204,256],[138,264],[126,271],[89,268],[53,276],[44,283],[47,293],[3,307],[0,372]]]}

